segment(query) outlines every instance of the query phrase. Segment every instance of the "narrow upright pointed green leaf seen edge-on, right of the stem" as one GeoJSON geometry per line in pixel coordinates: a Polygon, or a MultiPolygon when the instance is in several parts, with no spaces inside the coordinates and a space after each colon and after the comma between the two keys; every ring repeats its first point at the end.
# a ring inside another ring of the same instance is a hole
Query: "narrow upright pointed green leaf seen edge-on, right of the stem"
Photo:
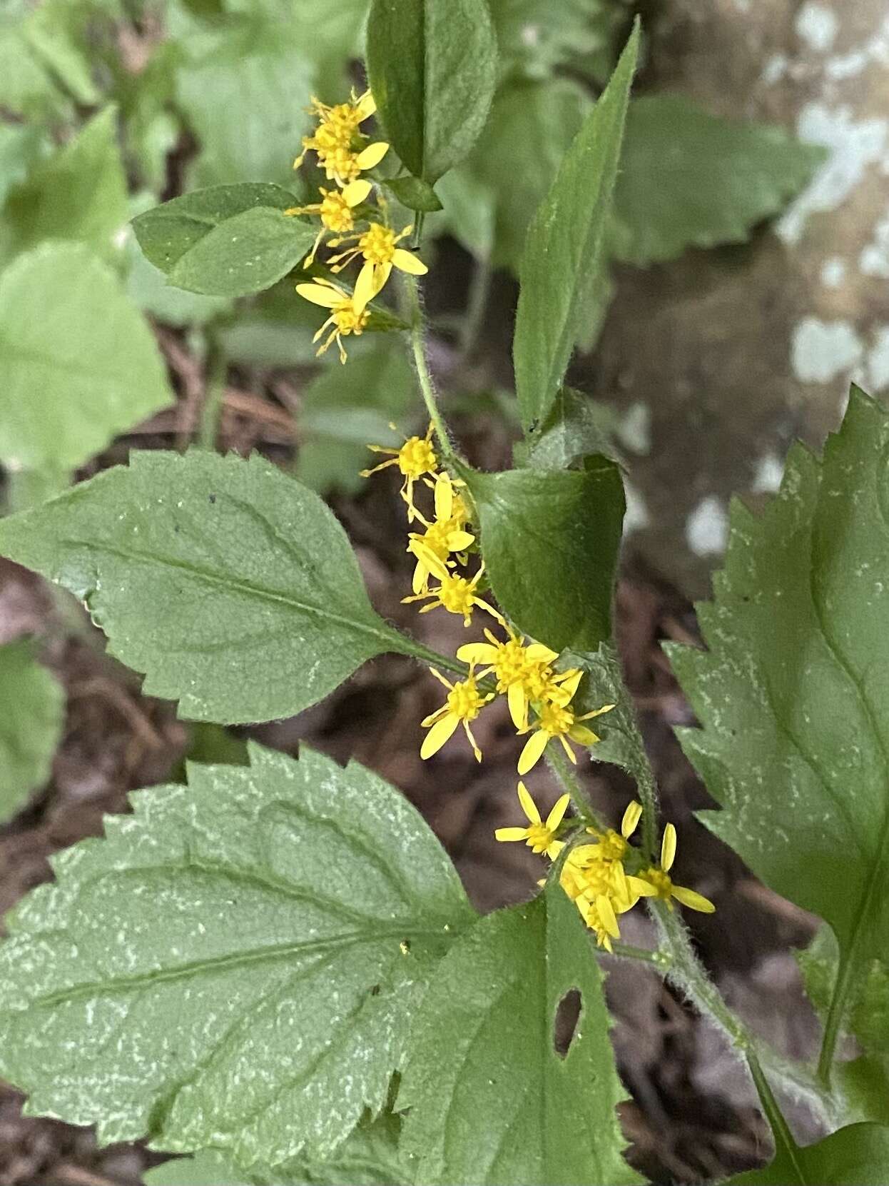
{"type": "Polygon", "coordinates": [[[603,266],[623,119],[639,52],[639,23],[607,89],[568,149],[533,217],[516,315],[516,393],[526,429],[546,417],[603,266]]]}

